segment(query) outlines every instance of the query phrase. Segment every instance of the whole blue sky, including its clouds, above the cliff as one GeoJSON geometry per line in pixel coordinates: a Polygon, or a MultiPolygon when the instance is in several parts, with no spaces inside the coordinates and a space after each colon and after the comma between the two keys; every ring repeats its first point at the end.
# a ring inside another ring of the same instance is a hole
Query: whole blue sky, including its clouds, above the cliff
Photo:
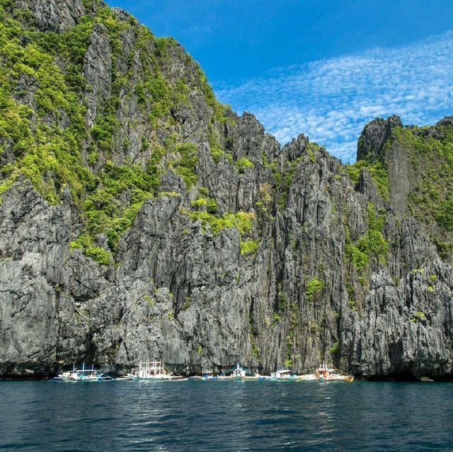
{"type": "Polygon", "coordinates": [[[374,117],[453,115],[452,0],[108,0],[175,37],[219,100],[343,162],[374,117]]]}

